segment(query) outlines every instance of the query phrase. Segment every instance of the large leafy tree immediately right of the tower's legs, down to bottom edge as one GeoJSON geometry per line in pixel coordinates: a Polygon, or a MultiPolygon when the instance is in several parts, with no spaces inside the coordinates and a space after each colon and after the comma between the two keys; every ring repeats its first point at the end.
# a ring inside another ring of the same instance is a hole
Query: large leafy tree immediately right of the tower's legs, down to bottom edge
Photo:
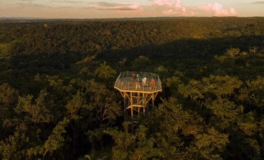
{"type": "Polygon", "coordinates": [[[155,131],[159,159],[192,158],[192,148],[186,145],[190,143],[188,139],[203,131],[203,119],[184,110],[174,97],[162,101],[148,119],[151,130],[155,131]]]}

